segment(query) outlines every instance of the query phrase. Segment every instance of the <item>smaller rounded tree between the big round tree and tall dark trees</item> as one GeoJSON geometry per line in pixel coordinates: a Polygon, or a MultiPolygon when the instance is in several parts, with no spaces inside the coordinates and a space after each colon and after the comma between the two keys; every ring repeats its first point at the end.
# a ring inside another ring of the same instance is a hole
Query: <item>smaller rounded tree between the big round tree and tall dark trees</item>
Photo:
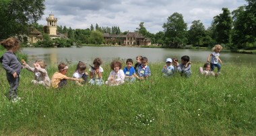
{"type": "Polygon", "coordinates": [[[194,20],[189,30],[189,41],[193,45],[200,45],[205,37],[205,27],[200,20],[194,20]]]}

